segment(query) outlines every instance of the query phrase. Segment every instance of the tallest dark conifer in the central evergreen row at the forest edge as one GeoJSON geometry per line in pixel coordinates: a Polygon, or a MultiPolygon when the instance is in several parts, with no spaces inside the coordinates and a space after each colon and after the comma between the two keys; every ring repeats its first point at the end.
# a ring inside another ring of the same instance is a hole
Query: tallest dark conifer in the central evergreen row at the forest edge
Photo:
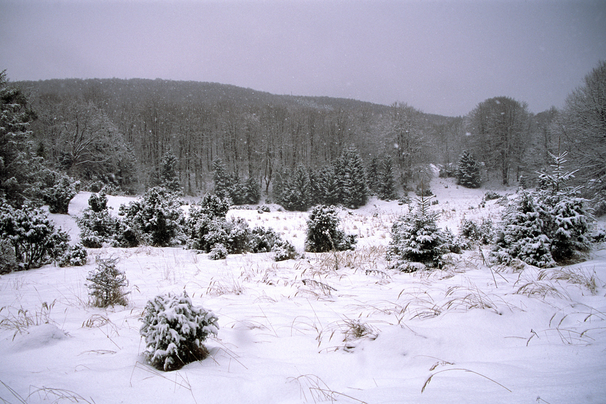
{"type": "Polygon", "coordinates": [[[368,200],[368,187],[364,164],[354,147],[348,147],[341,153],[337,160],[335,173],[341,203],[351,209],[365,205],[368,200]]]}

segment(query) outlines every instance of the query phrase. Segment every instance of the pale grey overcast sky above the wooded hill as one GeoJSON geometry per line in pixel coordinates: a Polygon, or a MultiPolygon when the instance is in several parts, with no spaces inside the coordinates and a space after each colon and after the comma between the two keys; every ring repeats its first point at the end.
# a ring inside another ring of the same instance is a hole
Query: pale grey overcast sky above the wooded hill
{"type": "Polygon", "coordinates": [[[12,81],[162,78],[467,114],[560,108],[606,59],[606,1],[0,0],[12,81]]]}

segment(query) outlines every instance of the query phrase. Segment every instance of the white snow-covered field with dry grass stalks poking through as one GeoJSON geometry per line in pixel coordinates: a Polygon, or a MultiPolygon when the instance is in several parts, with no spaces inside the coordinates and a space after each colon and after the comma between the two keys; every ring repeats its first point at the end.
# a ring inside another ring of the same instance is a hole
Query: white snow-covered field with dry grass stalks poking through
{"type": "MultiPolygon", "coordinates": [[[[442,227],[498,219],[494,201],[478,208],[485,190],[444,179],[431,189],[442,227]]],[[[51,215],[73,240],[73,216],[89,195],[72,200],[72,216],[51,215]]],[[[109,202],[117,211],[127,200],[109,202]]],[[[489,268],[476,250],[453,255],[445,270],[396,273],[385,247],[404,209],[373,199],[342,211],[358,245],[336,256],[213,261],[182,248],[104,248],[89,250],[85,267],[3,275],[0,402],[606,402],[602,246],[585,262],[547,271],[489,268]],[[96,255],[119,257],[128,306],[88,305],[85,277],[96,255]],[[591,276],[593,293],[582,284],[591,276]],[[148,299],[184,288],[218,315],[219,334],[205,344],[210,357],[163,373],[141,356],[139,316],[148,299]]],[[[231,215],[273,227],[303,249],[305,213],[231,215]]]]}

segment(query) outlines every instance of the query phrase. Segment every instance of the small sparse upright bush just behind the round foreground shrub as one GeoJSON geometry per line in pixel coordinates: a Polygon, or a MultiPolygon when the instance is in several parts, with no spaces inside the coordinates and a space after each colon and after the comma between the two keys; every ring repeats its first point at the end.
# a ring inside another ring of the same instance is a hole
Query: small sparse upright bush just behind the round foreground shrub
{"type": "Polygon", "coordinates": [[[126,274],[116,265],[118,258],[96,258],[97,267],[88,272],[88,295],[95,307],[126,305],[126,274]]]}

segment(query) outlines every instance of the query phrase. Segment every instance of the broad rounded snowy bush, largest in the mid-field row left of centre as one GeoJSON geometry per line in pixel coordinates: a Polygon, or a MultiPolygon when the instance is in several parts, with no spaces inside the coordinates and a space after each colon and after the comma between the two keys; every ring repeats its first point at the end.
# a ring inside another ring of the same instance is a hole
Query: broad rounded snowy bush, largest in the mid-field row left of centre
{"type": "Polygon", "coordinates": [[[161,187],[147,190],[141,200],[122,205],[125,228],[141,232],[142,242],[156,247],[178,243],[182,235],[182,200],[161,187]]]}

